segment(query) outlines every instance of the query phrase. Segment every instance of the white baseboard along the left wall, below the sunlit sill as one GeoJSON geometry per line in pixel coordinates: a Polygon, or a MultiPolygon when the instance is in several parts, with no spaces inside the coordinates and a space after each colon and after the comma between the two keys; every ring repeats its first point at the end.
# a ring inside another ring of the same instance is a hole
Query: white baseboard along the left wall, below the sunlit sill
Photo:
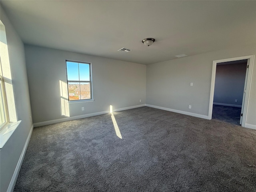
{"type": "Polygon", "coordinates": [[[24,147],[23,147],[23,150],[22,150],[22,152],[21,152],[21,154],[20,154],[20,158],[19,158],[19,160],[18,160],[18,164],[17,164],[17,166],[16,166],[16,168],[15,168],[15,170],[14,170],[14,173],[13,173],[13,175],[12,175],[12,179],[11,179],[11,181],[10,181],[9,187],[8,187],[8,189],[7,189],[7,192],[12,192],[12,191],[14,190],[14,186],[15,186],[15,184],[16,184],[16,181],[17,181],[17,178],[18,178],[18,175],[19,175],[19,172],[20,172],[20,168],[21,168],[21,165],[22,165],[24,156],[25,156],[25,154],[26,154],[26,150],[27,150],[27,148],[28,148],[28,143],[29,143],[29,141],[30,141],[30,137],[31,137],[31,135],[32,135],[33,128],[34,128],[34,127],[33,127],[33,125],[32,125],[31,128],[30,128],[30,131],[29,131],[27,140],[26,140],[26,142],[25,142],[25,145],[24,145],[24,147]]]}

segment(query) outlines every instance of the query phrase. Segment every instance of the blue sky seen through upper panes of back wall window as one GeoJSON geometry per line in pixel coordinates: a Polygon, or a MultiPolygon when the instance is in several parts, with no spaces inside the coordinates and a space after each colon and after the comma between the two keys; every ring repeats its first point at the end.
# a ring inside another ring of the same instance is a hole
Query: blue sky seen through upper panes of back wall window
{"type": "Polygon", "coordinates": [[[67,73],[69,81],[90,81],[89,64],[67,61],[67,73]]]}

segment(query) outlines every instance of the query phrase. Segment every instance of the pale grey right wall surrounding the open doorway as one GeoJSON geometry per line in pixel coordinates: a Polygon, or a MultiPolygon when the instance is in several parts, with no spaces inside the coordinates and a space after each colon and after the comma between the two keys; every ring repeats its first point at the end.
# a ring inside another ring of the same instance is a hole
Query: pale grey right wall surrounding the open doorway
{"type": "MultiPolygon", "coordinates": [[[[208,116],[213,60],[255,54],[252,44],[147,65],[146,104],[208,116]]],[[[256,126],[255,61],[252,76],[246,123],[256,126]]]]}

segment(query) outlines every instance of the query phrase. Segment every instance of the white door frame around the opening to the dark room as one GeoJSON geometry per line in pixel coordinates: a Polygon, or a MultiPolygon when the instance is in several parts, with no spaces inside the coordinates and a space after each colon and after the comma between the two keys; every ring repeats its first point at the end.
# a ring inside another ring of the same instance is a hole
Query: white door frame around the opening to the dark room
{"type": "MultiPolygon", "coordinates": [[[[247,108],[248,108],[248,100],[249,100],[249,94],[250,94],[250,86],[251,86],[251,81],[252,81],[252,68],[253,68],[253,61],[254,61],[254,55],[251,56],[243,56],[243,57],[237,57],[237,58],[229,58],[229,59],[222,59],[222,60],[214,60],[213,61],[213,66],[212,66],[212,83],[211,83],[211,91],[210,91],[210,104],[209,104],[209,115],[208,115],[208,119],[212,119],[212,112],[213,112],[213,104],[214,104],[214,90],[215,90],[215,80],[216,80],[216,68],[217,68],[217,64],[218,65],[224,65],[225,62],[241,62],[241,61],[247,61],[246,64],[246,77],[245,77],[245,81],[244,81],[244,90],[243,90],[243,96],[242,99],[240,97],[240,104],[234,104],[231,103],[231,106],[227,106],[227,107],[237,107],[239,106],[239,108],[241,107],[241,112],[240,112],[240,124],[242,127],[245,127],[245,123],[246,123],[246,116],[247,116],[247,108]],[[241,100],[242,100],[242,104],[241,104],[241,100]],[[235,105],[235,106],[232,106],[235,105]]],[[[232,63],[229,63],[232,64],[232,63]]],[[[238,103],[238,98],[234,99],[237,100],[238,103]]],[[[218,102],[215,102],[215,104],[220,104],[218,102]]],[[[217,106],[217,105],[216,105],[217,106]]],[[[239,113],[239,112],[238,112],[239,113]]]]}

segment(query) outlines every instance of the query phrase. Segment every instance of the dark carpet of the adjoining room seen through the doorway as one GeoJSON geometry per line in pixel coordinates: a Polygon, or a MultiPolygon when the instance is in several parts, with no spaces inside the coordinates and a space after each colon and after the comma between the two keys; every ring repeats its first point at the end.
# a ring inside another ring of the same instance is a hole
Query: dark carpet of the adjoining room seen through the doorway
{"type": "Polygon", "coordinates": [[[221,105],[213,105],[212,119],[240,126],[241,108],[221,105]]]}

